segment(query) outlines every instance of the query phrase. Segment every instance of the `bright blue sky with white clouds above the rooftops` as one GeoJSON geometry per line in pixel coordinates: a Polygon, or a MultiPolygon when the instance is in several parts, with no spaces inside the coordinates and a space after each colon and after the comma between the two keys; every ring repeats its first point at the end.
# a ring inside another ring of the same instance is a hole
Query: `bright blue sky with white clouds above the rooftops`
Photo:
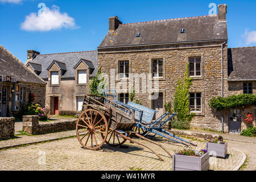
{"type": "Polygon", "coordinates": [[[123,23],[201,16],[208,15],[210,3],[228,5],[228,47],[256,46],[255,0],[0,0],[0,44],[23,63],[28,49],[42,54],[96,50],[108,32],[109,16],[123,23]],[[46,5],[46,22],[38,17],[39,3],[46,5]]]}

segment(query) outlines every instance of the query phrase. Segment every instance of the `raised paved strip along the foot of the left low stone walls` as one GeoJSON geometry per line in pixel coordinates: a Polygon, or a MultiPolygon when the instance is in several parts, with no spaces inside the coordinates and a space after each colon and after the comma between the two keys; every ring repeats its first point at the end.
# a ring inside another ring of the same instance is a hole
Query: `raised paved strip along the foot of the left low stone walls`
{"type": "Polygon", "coordinates": [[[69,137],[74,135],[76,135],[76,130],[63,131],[59,133],[49,133],[45,135],[34,135],[34,136],[18,135],[14,139],[0,140],[0,147],[13,146],[17,144],[25,144],[30,142],[38,142],[42,140],[50,140],[50,139],[61,138],[61,137],[69,137]]]}

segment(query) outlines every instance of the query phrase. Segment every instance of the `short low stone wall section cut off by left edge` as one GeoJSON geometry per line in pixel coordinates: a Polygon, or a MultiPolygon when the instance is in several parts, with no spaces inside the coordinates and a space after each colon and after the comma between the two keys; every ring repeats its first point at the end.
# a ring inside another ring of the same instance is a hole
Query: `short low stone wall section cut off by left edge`
{"type": "Polygon", "coordinates": [[[0,118],[0,138],[7,139],[14,137],[15,118],[0,118]]]}

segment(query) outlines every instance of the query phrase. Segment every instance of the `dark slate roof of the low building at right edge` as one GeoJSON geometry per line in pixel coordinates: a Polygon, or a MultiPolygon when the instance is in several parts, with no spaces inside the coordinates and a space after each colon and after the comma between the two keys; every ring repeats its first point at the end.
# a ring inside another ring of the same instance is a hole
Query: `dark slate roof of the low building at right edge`
{"type": "Polygon", "coordinates": [[[229,80],[256,80],[256,47],[228,49],[229,80]]]}

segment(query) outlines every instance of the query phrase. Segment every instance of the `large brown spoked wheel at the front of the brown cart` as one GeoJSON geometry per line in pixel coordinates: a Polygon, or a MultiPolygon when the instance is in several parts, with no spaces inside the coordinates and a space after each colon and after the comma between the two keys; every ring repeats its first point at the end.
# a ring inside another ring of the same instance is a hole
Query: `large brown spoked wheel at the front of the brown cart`
{"type": "Polygon", "coordinates": [[[102,147],[106,141],[108,131],[108,122],[105,115],[100,111],[88,109],[77,119],[77,139],[83,147],[89,150],[97,150],[102,147]],[[106,137],[100,137],[100,134],[104,134],[106,137]]]}

